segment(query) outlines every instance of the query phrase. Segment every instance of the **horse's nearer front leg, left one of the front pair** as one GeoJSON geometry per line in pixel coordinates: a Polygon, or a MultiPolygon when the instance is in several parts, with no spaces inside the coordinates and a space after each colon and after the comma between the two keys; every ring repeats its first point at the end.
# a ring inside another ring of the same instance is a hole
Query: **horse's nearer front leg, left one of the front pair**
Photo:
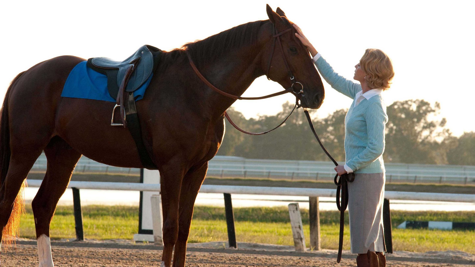
{"type": "Polygon", "coordinates": [[[161,267],[171,266],[171,255],[178,237],[178,208],[181,181],[185,168],[178,160],[171,161],[160,168],[161,205],[163,212],[163,254],[161,267]]]}

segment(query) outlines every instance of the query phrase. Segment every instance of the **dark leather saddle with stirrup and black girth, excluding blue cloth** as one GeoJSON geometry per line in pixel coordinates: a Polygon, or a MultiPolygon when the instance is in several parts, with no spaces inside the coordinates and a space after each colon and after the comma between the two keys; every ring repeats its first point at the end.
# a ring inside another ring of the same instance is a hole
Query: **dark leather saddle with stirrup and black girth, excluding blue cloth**
{"type": "Polygon", "coordinates": [[[87,67],[107,76],[107,89],[109,94],[116,99],[111,125],[129,129],[142,165],[149,170],[156,170],[157,167],[143,144],[133,92],[153,74],[158,66],[161,52],[159,48],[144,45],[123,61],[114,61],[107,57],[93,57],[87,60],[87,67]],[[114,123],[114,112],[117,107],[120,108],[122,123],[114,123]]]}

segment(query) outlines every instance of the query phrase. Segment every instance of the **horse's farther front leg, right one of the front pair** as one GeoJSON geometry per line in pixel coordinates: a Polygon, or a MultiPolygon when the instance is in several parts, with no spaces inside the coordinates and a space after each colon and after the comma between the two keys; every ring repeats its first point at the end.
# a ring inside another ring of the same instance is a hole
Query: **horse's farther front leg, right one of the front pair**
{"type": "Polygon", "coordinates": [[[173,267],[185,266],[186,244],[190,234],[193,207],[195,205],[199,188],[205,179],[207,170],[208,162],[197,170],[189,171],[181,183],[182,193],[180,194],[178,238],[175,244],[175,252],[173,254],[173,267]]]}

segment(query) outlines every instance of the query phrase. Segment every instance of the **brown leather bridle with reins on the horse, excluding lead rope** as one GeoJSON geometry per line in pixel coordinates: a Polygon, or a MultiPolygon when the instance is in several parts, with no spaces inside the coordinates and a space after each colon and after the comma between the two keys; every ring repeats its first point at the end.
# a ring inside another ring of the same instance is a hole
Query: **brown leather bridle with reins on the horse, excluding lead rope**
{"type": "Polygon", "coordinates": [[[261,134],[267,134],[269,132],[272,132],[274,131],[275,129],[277,129],[278,127],[280,127],[282,124],[285,123],[285,121],[287,121],[287,119],[290,117],[290,115],[294,112],[295,108],[296,107],[300,107],[301,105],[299,104],[299,100],[300,100],[300,97],[302,96],[305,96],[304,95],[304,86],[302,85],[302,83],[300,82],[297,82],[295,80],[295,76],[292,74],[292,71],[290,70],[290,67],[289,67],[289,64],[287,63],[287,58],[285,57],[285,53],[284,53],[284,48],[282,47],[282,41],[280,40],[280,36],[285,34],[286,32],[289,32],[289,31],[292,31],[293,28],[289,28],[289,29],[285,29],[281,32],[277,32],[277,28],[276,26],[274,26],[274,34],[273,34],[273,43],[272,43],[272,52],[270,54],[270,57],[269,57],[269,65],[267,67],[267,73],[266,73],[266,76],[267,76],[267,79],[270,80],[269,78],[269,73],[270,73],[270,67],[271,67],[271,64],[272,64],[272,58],[274,57],[274,50],[275,50],[275,47],[276,47],[276,42],[279,43],[279,47],[280,47],[280,50],[282,52],[282,58],[284,59],[284,63],[285,63],[285,68],[287,69],[287,73],[288,73],[288,76],[290,78],[290,81],[292,82],[292,85],[283,90],[283,91],[280,91],[280,92],[277,92],[277,93],[274,93],[274,94],[270,94],[270,95],[264,95],[264,96],[258,96],[258,97],[242,97],[242,96],[239,96],[239,95],[231,95],[231,94],[228,94],[226,92],[223,92],[221,90],[219,90],[218,88],[216,88],[216,86],[213,86],[198,70],[198,68],[196,67],[196,65],[193,63],[193,60],[191,59],[191,55],[190,55],[190,52],[188,50],[186,50],[186,54],[188,56],[188,59],[190,60],[190,65],[191,65],[191,68],[194,70],[194,72],[196,73],[196,75],[209,87],[211,88],[213,91],[217,92],[218,94],[221,94],[221,95],[224,95],[224,96],[227,96],[229,98],[232,98],[232,99],[237,99],[237,100],[258,100],[258,99],[265,99],[265,98],[269,98],[269,97],[273,97],[273,96],[277,96],[277,95],[284,95],[286,93],[291,93],[293,95],[295,95],[295,106],[294,108],[292,109],[292,111],[290,112],[290,114],[285,118],[285,120],[277,125],[275,128],[271,129],[271,130],[268,130],[266,132],[262,132],[262,133],[251,133],[251,132],[248,132],[246,130],[243,130],[241,129],[239,126],[237,126],[232,120],[231,118],[229,117],[228,113],[225,112],[224,115],[226,117],[226,119],[228,119],[229,123],[231,125],[233,125],[238,131],[242,132],[242,133],[245,133],[245,134],[251,134],[251,135],[261,135],[261,134]],[[300,90],[295,90],[294,86],[295,85],[300,85],[301,88],[300,90]]]}

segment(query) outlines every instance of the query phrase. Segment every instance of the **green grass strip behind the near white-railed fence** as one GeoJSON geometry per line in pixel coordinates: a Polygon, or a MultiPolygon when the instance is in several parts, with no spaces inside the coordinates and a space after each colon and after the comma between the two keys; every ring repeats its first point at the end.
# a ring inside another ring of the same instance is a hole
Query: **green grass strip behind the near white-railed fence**
{"type": "MultiPolygon", "coordinates": [[[[20,234],[36,238],[31,205],[20,221],[20,234]]],[[[307,247],[309,219],[308,210],[301,210],[307,247]]],[[[293,245],[292,230],[286,207],[237,208],[234,209],[236,238],[238,242],[293,245]]],[[[348,215],[345,216],[343,248],[350,248],[348,215]]],[[[394,250],[425,252],[431,250],[461,250],[475,254],[475,231],[473,230],[428,230],[396,229],[404,220],[475,221],[475,212],[457,211],[392,211],[394,250]]],[[[128,206],[84,206],[83,222],[85,238],[132,239],[138,229],[138,208],[128,206]]],[[[322,248],[337,249],[339,213],[320,212],[322,248]]],[[[51,222],[51,238],[75,238],[72,206],[58,206],[51,222]]],[[[191,223],[189,242],[226,241],[228,239],[224,208],[197,206],[191,223]]]]}

